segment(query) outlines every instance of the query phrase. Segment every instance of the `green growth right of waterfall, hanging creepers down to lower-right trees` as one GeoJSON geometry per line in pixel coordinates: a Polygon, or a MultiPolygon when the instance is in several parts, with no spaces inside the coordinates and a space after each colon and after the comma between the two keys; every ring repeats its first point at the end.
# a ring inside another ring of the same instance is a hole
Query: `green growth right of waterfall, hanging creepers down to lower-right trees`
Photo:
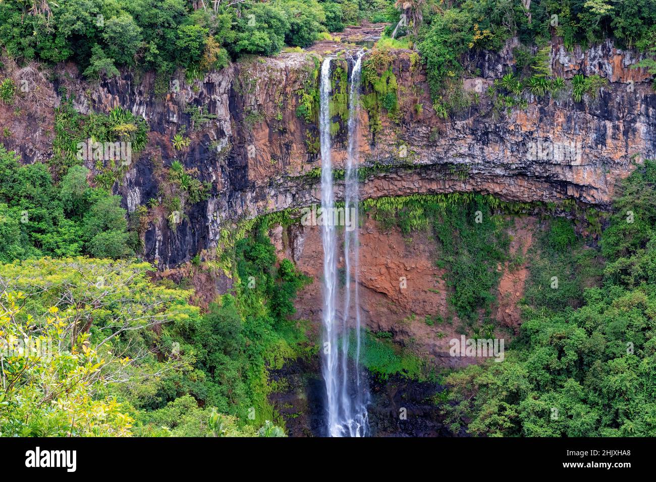
{"type": "MultiPolygon", "coordinates": [[[[583,437],[656,433],[656,163],[623,182],[599,248],[571,221],[543,212],[546,229],[529,256],[519,336],[502,363],[445,376],[442,407],[453,433],[583,437]],[[558,289],[549,289],[558,275],[558,289]]],[[[377,201],[382,226],[438,241],[451,313],[461,332],[491,338],[497,262],[514,262],[504,228],[525,206],[493,197],[417,196],[377,201]],[[482,212],[485,222],[474,222],[482,212]],[[483,318],[484,319],[484,318],[483,318]]],[[[520,260],[521,261],[521,260],[520,260]]],[[[438,323],[450,323],[439,319],[438,323]]]]}

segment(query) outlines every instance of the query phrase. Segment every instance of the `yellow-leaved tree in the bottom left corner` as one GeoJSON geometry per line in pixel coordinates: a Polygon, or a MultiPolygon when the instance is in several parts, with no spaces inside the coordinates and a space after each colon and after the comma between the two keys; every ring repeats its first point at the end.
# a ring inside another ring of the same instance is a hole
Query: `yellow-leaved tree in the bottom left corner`
{"type": "Polygon", "coordinates": [[[112,396],[96,396],[110,364],[89,333],[75,338],[70,311],[51,306],[35,316],[29,295],[0,294],[0,435],[125,436],[133,419],[112,396]],[[73,346],[70,346],[73,344],[73,346]]]}

